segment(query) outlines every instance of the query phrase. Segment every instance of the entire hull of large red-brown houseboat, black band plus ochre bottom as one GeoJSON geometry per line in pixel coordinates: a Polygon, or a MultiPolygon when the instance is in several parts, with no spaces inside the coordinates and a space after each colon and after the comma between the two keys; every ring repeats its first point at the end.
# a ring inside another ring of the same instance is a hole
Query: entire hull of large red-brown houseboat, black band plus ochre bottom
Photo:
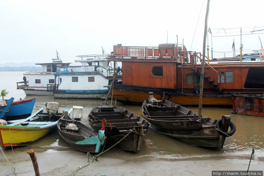
{"type": "MultiPolygon", "coordinates": [[[[161,92],[176,92],[176,90],[115,84],[111,94],[113,99],[125,104],[142,104],[142,102],[149,97],[148,92],[153,92],[153,96],[156,99],[160,99],[161,92]]],[[[199,94],[170,93],[169,100],[172,101],[173,99],[175,99],[176,104],[199,104],[199,94]]],[[[232,105],[231,94],[204,94],[203,104],[232,105]]]]}

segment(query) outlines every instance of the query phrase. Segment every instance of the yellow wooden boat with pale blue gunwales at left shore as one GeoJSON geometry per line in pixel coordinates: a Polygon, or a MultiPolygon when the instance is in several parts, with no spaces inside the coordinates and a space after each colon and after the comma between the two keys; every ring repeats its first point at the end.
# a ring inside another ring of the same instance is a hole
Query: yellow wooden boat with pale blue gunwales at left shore
{"type": "Polygon", "coordinates": [[[63,114],[57,115],[43,112],[43,108],[28,118],[0,126],[2,147],[23,146],[36,141],[56,129],[57,121],[63,114]]]}

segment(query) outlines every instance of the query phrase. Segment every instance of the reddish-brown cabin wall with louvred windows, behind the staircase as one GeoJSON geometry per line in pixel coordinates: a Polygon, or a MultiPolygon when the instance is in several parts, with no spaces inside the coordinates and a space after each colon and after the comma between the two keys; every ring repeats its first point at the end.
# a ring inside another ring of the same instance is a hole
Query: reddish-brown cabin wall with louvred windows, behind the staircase
{"type": "MultiPolygon", "coordinates": [[[[245,89],[264,89],[264,84],[260,84],[259,80],[261,79],[258,75],[261,68],[250,68],[250,67],[231,67],[227,65],[211,65],[217,72],[217,74],[210,70],[209,67],[206,67],[204,70],[205,78],[203,89],[208,92],[218,93],[217,90],[212,84],[217,84],[218,87],[224,92],[236,92],[239,90],[245,89]],[[220,82],[221,77],[221,82],[220,82]],[[211,84],[210,84],[211,81],[211,84]],[[254,86],[255,87],[254,87],[254,86]]],[[[201,68],[197,65],[197,71],[192,69],[189,65],[183,65],[183,70],[180,66],[177,68],[177,85],[181,89],[183,85],[184,92],[193,93],[196,86],[199,87],[200,82],[200,72],[201,68]],[[183,72],[183,79],[182,79],[183,72]]],[[[251,91],[252,92],[252,91],[251,91]]]]}

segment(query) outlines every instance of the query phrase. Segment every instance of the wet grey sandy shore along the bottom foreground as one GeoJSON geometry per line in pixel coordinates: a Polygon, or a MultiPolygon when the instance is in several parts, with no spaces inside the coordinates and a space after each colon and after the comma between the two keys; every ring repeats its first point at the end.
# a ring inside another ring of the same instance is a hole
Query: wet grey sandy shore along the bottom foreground
{"type": "MultiPolygon", "coordinates": [[[[76,150],[53,150],[34,149],[38,160],[41,176],[65,175],[71,176],[133,176],[133,175],[211,175],[212,170],[247,170],[249,160],[243,159],[219,159],[219,160],[182,160],[182,159],[159,159],[145,158],[144,161],[137,158],[126,158],[126,160],[113,159],[102,154],[98,161],[92,163],[86,153],[76,150]],[[88,165],[89,164],[89,165],[88,165]],[[88,165],[88,166],[87,166],[88,165]],[[86,167],[85,167],[86,166],[86,167]]],[[[34,176],[34,168],[27,150],[23,148],[14,149],[17,161],[13,157],[12,150],[3,149],[9,162],[19,176],[34,176]]],[[[1,153],[0,175],[14,175],[11,166],[1,153]]],[[[249,170],[263,170],[263,160],[251,160],[249,170]]]]}

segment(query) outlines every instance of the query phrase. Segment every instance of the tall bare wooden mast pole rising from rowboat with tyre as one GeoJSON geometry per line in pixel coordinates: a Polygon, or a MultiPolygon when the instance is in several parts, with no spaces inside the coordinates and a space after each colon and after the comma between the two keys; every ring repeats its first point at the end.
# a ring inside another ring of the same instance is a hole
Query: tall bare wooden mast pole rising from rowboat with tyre
{"type": "Polygon", "coordinates": [[[207,19],[208,19],[208,14],[209,14],[209,5],[210,5],[210,0],[207,1],[207,9],[206,9],[205,23],[204,23],[203,57],[202,57],[202,70],[201,70],[201,78],[200,78],[200,97],[199,97],[199,111],[198,111],[199,119],[201,119],[201,114],[202,114],[202,99],[203,99],[203,86],[204,86],[204,60],[205,60],[205,46],[206,46],[207,19]]]}

